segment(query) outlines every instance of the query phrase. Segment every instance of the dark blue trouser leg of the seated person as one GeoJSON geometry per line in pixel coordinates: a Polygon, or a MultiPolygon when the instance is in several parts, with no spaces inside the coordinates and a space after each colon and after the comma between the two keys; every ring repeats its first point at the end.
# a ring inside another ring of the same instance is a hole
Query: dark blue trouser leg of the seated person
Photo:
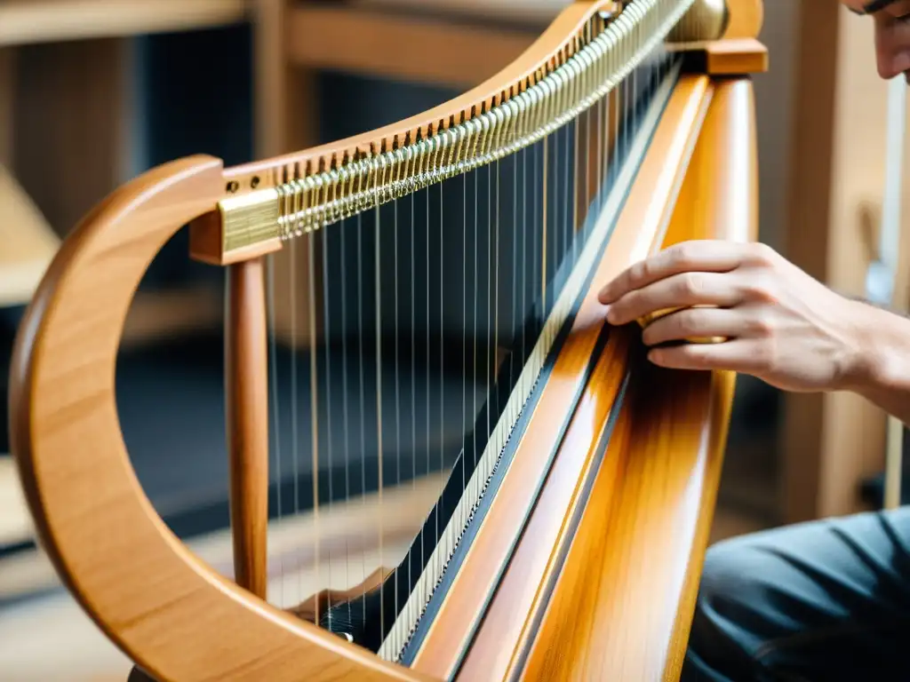
{"type": "Polygon", "coordinates": [[[682,682],[910,682],[910,507],[711,547],[682,682]]]}

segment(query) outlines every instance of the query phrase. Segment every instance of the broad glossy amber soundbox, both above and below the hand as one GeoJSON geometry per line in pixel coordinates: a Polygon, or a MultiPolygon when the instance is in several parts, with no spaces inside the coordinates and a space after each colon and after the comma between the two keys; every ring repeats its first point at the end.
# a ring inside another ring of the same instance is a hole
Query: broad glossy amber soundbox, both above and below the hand
{"type": "MultiPolygon", "coordinates": [[[[664,244],[754,238],[756,170],[752,85],[718,83],[664,244]]],[[[633,355],[628,395],[523,679],[679,678],[734,376],[658,368],[640,346],[633,355]]]]}

